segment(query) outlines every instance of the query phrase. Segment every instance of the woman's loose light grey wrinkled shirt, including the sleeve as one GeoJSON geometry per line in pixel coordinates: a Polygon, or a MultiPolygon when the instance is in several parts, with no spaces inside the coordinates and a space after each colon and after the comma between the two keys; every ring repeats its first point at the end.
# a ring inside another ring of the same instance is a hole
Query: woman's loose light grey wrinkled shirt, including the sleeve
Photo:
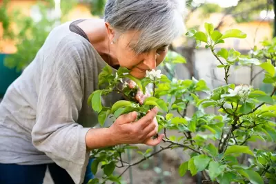
{"type": "MultiPolygon", "coordinates": [[[[86,39],[70,32],[69,25],[50,32],[3,97],[0,163],[55,162],[75,183],[82,183],[90,156],[85,136],[98,123],[87,101],[99,89],[98,75],[106,62],[86,39]]],[[[110,106],[119,99],[119,94],[110,94],[102,102],[110,106]]]]}

